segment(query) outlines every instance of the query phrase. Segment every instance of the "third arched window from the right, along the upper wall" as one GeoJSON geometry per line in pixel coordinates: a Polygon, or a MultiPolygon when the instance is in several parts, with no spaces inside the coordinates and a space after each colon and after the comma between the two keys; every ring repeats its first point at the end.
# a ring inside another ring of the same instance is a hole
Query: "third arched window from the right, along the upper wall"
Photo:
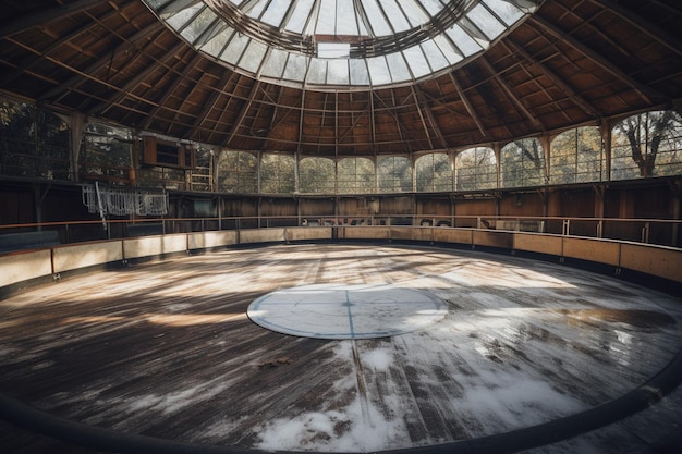
{"type": "Polygon", "coordinates": [[[536,138],[507,144],[501,150],[502,187],[539,186],[546,183],[545,154],[536,138]]]}

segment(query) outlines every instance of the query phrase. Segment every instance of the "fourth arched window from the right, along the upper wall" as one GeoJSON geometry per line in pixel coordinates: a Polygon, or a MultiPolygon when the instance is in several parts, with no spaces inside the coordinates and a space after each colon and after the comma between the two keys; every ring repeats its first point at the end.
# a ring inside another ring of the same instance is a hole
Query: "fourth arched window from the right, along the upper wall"
{"type": "Polygon", "coordinates": [[[476,147],[460,152],[454,160],[456,191],[497,187],[497,162],[492,148],[476,147]]]}

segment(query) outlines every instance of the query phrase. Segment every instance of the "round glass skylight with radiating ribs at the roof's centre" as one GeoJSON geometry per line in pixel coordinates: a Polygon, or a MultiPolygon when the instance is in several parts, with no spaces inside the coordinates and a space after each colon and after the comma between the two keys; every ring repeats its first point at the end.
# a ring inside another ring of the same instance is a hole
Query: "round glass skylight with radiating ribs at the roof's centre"
{"type": "Polygon", "coordinates": [[[543,0],[144,0],[197,50],[280,85],[412,83],[487,49],[543,0]]]}

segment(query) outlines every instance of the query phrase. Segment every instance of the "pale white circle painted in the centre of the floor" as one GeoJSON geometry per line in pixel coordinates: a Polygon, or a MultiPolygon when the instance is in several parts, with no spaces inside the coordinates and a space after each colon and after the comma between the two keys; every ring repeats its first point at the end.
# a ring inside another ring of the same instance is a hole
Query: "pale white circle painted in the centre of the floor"
{"type": "Polygon", "coordinates": [[[446,304],[414,289],[315,284],[278,290],[254,300],[248,318],[303,338],[372,339],[421,330],[441,320],[446,304]]]}

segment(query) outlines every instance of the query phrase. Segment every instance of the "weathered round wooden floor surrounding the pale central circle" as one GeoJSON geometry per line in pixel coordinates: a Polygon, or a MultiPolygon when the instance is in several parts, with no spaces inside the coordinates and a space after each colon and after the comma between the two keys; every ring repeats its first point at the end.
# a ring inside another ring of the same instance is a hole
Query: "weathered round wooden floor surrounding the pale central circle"
{"type": "MultiPolygon", "coordinates": [[[[681,320],[672,297],[501,255],[233,249],[0,300],[0,391],[122,433],[264,450],[402,449],[539,425],[622,396],[677,355],[681,320]],[[426,330],[346,341],[279,334],[246,316],[268,292],[316,283],[417,289],[449,311],[426,330]]],[[[640,415],[533,452],[651,452],[680,429],[682,400],[670,398],[655,421],[640,415]]],[[[90,452],[7,422],[0,447],[90,452]]]]}

